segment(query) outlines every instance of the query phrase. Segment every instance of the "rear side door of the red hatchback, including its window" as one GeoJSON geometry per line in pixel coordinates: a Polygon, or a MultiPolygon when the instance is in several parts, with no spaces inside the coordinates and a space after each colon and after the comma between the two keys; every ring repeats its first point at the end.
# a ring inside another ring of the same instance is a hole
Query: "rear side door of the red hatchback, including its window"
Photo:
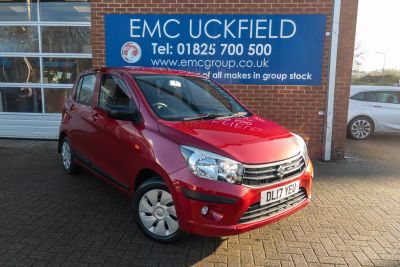
{"type": "Polygon", "coordinates": [[[73,153],[84,163],[88,163],[91,157],[91,133],[94,130],[92,106],[95,86],[95,73],[82,76],[73,101],[67,105],[67,112],[71,116],[69,139],[73,153]]]}

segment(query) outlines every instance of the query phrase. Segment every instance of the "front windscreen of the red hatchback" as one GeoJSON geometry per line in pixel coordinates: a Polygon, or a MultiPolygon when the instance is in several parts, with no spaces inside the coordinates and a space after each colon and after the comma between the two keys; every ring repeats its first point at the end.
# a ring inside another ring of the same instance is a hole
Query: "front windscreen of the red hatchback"
{"type": "Polygon", "coordinates": [[[164,120],[205,120],[251,115],[224,89],[207,78],[165,74],[135,74],[133,78],[151,109],[164,120]]]}

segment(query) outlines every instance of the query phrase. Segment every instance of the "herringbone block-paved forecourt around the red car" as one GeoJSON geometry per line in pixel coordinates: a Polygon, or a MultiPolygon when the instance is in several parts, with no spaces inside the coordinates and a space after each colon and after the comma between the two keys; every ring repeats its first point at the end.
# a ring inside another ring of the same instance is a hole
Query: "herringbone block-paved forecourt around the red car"
{"type": "Polygon", "coordinates": [[[169,245],[140,233],[117,190],[66,175],[56,146],[0,139],[0,266],[400,266],[400,136],[314,161],[312,202],[286,219],[169,245]]]}

